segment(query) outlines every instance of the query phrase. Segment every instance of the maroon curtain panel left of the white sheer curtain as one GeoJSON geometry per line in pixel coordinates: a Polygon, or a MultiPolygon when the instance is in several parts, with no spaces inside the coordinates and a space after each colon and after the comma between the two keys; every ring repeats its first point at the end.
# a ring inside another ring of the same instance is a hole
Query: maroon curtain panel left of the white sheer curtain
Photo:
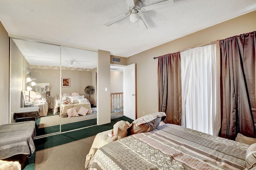
{"type": "Polygon", "coordinates": [[[181,125],[180,52],[158,57],[158,101],[164,122],[181,125]]]}

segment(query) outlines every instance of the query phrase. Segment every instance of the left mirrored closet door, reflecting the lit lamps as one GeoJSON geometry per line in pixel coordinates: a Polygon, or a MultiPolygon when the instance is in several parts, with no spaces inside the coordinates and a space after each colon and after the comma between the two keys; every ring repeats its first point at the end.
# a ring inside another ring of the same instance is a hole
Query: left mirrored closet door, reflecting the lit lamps
{"type": "MultiPolygon", "coordinates": [[[[60,93],[60,46],[12,38],[10,58],[11,113],[37,106],[36,135],[60,132],[60,117],[53,113],[53,97],[60,93]]],[[[17,121],[12,114],[10,120],[17,121]]]]}

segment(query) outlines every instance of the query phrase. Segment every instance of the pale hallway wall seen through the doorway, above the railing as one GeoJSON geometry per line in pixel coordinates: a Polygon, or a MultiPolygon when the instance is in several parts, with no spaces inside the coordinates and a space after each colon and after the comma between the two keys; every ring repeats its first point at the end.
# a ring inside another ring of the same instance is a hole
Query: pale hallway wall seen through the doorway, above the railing
{"type": "Polygon", "coordinates": [[[110,71],[110,93],[122,93],[124,87],[124,74],[121,71],[110,71]]]}

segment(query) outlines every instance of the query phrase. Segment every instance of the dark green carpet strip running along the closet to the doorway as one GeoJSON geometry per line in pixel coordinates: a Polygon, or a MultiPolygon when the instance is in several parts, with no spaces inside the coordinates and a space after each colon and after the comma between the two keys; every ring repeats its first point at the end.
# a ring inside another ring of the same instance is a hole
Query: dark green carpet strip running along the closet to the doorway
{"type": "MultiPolygon", "coordinates": [[[[119,117],[116,119],[112,119],[111,123],[108,123],[105,125],[88,127],[88,128],[84,128],[84,129],[80,129],[80,130],[76,130],[76,131],[72,131],[72,132],[66,132],[63,134],[56,134],[56,135],[48,136],[45,138],[35,139],[34,144],[36,146],[36,151],[46,149],[46,148],[51,148],[54,146],[58,146],[61,144],[79,140],[82,138],[87,138],[87,137],[93,136],[99,132],[110,130],[113,128],[113,125],[115,123],[117,123],[118,121],[121,121],[121,120],[128,121],[129,123],[132,123],[132,121],[133,121],[132,119],[130,119],[128,117],[122,116],[122,117],[119,117]]],[[[89,121],[89,122],[87,122],[88,125],[95,123],[94,119],[88,120],[88,121],[89,121]]],[[[62,127],[62,128],[76,126],[76,124],[77,123],[69,123],[69,124],[67,124],[66,127],[62,127]]],[[[81,126],[81,125],[78,125],[77,127],[79,127],[79,126],[81,126]]],[[[55,127],[53,127],[53,128],[55,128],[55,127]]],[[[48,131],[50,131],[50,127],[49,127],[48,131]]],[[[24,168],[24,170],[34,170],[35,154],[36,154],[36,152],[34,152],[32,154],[32,156],[28,159],[28,165],[24,168]]]]}

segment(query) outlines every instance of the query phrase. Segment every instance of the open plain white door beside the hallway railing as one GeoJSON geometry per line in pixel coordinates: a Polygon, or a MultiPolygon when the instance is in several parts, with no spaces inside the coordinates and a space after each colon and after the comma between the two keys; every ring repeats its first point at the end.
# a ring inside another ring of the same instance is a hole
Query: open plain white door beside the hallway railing
{"type": "Polygon", "coordinates": [[[124,116],[136,119],[135,64],[124,67],[124,116]]]}

